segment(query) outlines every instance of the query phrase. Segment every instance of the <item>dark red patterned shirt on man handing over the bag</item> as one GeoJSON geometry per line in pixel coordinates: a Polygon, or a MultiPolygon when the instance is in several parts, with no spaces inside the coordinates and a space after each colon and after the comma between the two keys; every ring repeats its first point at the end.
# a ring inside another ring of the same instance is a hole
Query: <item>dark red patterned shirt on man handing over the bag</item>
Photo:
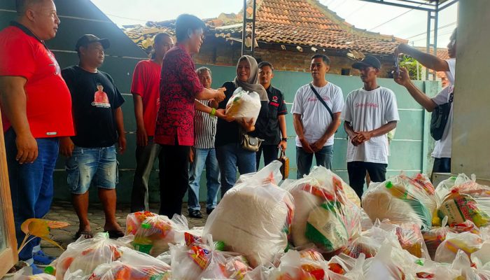
{"type": "Polygon", "coordinates": [[[204,87],[195,72],[193,59],[181,45],[165,54],[160,85],[155,143],[193,146],[194,100],[204,87]]]}

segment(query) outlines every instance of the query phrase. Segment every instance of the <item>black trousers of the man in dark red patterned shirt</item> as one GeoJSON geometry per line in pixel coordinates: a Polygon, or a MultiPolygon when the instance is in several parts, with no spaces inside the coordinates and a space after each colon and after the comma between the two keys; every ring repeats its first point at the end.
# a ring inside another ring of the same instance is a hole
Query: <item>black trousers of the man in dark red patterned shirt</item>
{"type": "Polygon", "coordinates": [[[190,146],[161,145],[160,211],[158,214],[172,218],[181,215],[182,200],[189,186],[190,146]]]}

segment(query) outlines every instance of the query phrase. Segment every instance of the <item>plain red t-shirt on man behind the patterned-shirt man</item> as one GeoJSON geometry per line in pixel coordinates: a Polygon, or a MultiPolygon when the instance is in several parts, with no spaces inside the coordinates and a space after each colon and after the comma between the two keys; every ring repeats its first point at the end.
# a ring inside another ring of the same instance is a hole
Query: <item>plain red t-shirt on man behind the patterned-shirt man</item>
{"type": "Polygon", "coordinates": [[[162,66],[153,60],[138,62],[133,73],[131,93],[143,99],[143,121],[146,134],[155,135],[158,106],[160,106],[160,73],[162,66]]]}

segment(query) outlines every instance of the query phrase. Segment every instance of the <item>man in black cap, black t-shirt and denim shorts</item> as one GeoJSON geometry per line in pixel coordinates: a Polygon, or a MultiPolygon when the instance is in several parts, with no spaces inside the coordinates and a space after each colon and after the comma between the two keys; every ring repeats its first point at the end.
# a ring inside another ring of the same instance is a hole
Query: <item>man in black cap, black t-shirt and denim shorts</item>
{"type": "Polygon", "coordinates": [[[73,207],[80,221],[76,238],[93,236],[87,217],[88,189],[93,183],[104,207],[104,231],[109,237],[122,237],[124,232],[116,221],[116,183],[118,167],[115,144],[119,152],[126,149],[123,124],[124,103],[113,78],[99,68],[104,63],[107,39],[83,35],[76,43],[80,62],[62,70],[73,100],[73,123],[76,135],[61,140],[59,153],[65,155],[66,173],[73,207]]]}

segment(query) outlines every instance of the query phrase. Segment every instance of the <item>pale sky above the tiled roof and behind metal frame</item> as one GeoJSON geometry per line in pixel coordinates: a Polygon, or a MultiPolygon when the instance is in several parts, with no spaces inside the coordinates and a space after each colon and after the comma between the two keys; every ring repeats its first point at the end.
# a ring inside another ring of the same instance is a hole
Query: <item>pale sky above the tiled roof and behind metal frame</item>
{"type": "MultiPolygon", "coordinates": [[[[146,21],[175,19],[181,13],[215,18],[220,13],[238,13],[243,0],[91,0],[117,25],[144,24],[146,21]]],[[[284,0],[287,1],[287,0],[284,0]]],[[[407,38],[425,45],[427,13],[359,0],[321,0],[347,22],[361,29],[407,38]]],[[[439,15],[437,45],[445,47],[456,27],[457,4],[439,15]]]]}

